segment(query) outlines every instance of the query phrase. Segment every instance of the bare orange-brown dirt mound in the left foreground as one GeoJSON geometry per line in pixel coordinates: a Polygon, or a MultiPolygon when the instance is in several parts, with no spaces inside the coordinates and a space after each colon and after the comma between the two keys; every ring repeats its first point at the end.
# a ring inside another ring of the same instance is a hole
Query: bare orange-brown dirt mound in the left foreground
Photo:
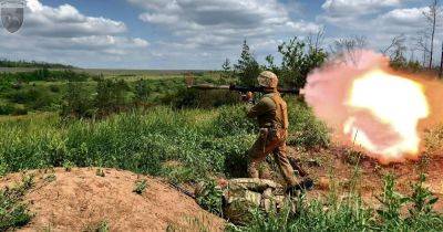
{"type": "MultiPolygon", "coordinates": [[[[27,194],[35,215],[23,231],[220,231],[224,220],[202,210],[195,201],[158,179],[130,171],[82,168],[29,171],[34,187],[27,194]],[[142,194],[133,192],[146,180],[142,194]]],[[[0,179],[0,187],[21,180],[21,173],[0,179]]]]}

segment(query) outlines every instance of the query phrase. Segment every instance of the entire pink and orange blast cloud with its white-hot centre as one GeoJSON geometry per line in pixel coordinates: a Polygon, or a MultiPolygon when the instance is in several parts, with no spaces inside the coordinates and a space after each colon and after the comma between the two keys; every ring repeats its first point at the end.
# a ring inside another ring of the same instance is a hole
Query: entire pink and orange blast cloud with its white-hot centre
{"type": "Polygon", "coordinates": [[[360,50],[315,70],[303,91],[336,139],[389,164],[419,157],[424,128],[442,119],[442,89],[440,82],[394,72],[388,57],[360,50]]]}

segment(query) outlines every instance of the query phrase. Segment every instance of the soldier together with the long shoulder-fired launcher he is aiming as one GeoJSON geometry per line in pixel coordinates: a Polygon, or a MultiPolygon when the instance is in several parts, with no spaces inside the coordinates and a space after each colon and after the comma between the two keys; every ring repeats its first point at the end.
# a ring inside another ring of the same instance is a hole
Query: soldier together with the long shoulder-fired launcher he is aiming
{"type": "Polygon", "coordinates": [[[260,85],[259,87],[213,84],[194,85],[194,78],[190,75],[186,76],[188,88],[236,91],[244,94],[244,99],[250,103],[254,98],[253,93],[264,93],[265,95],[247,113],[249,118],[257,118],[260,128],[257,141],[248,151],[248,175],[250,178],[262,177],[259,173],[258,166],[269,154],[272,154],[287,182],[287,192],[295,193],[299,190],[309,190],[313,187],[313,181],[299,164],[291,162],[287,156],[288,108],[280,95],[280,93],[300,95],[305,94],[305,92],[299,88],[279,88],[277,75],[269,71],[261,72],[257,81],[260,85]],[[295,169],[302,178],[301,181],[298,181],[298,178],[295,177],[295,169]]]}

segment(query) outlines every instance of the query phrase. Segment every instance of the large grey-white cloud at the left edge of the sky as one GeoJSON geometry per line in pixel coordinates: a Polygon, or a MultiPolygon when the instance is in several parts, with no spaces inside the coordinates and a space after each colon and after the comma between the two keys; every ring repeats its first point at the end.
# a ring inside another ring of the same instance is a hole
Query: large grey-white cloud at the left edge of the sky
{"type": "Polygon", "coordinates": [[[87,17],[71,4],[49,7],[28,0],[24,13],[18,33],[0,32],[0,51],[9,59],[101,66],[127,55],[138,57],[150,45],[144,39],[128,38],[124,22],[87,17]]]}

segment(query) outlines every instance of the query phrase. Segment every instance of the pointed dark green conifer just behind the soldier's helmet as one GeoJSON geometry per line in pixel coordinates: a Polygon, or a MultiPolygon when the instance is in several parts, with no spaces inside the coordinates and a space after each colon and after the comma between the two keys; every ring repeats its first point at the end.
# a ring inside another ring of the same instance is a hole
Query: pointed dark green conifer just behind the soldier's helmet
{"type": "Polygon", "coordinates": [[[245,86],[255,86],[256,78],[260,74],[260,65],[254,57],[246,40],[243,43],[241,55],[237,64],[234,65],[235,73],[239,78],[239,84],[245,86]]]}

